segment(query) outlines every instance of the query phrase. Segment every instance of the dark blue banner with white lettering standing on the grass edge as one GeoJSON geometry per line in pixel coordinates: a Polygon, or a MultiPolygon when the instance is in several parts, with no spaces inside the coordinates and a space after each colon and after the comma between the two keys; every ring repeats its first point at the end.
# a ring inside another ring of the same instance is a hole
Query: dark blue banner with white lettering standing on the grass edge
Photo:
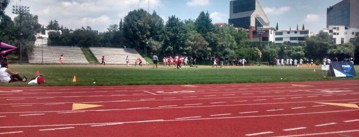
{"type": "Polygon", "coordinates": [[[350,62],[333,61],[329,65],[327,77],[354,77],[354,66],[350,62]]]}

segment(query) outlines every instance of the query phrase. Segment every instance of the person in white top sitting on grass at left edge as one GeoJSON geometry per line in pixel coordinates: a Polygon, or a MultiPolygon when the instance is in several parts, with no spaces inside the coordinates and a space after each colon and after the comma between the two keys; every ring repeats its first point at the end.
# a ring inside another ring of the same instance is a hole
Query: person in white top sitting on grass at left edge
{"type": "Polygon", "coordinates": [[[9,83],[9,82],[16,82],[16,81],[27,81],[27,78],[24,76],[24,78],[20,77],[20,73],[18,72],[12,72],[10,69],[8,69],[8,63],[7,61],[1,61],[1,67],[0,67],[0,82],[2,83],[9,83]]]}

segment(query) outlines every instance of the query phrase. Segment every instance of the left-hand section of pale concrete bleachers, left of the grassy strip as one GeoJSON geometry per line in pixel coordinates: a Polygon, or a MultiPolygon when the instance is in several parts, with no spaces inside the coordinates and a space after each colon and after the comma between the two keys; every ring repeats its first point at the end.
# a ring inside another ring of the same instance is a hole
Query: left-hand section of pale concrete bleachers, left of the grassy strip
{"type": "Polygon", "coordinates": [[[33,64],[59,64],[60,55],[63,54],[64,64],[89,64],[79,47],[46,46],[34,47],[28,54],[29,63],[33,64]]]}

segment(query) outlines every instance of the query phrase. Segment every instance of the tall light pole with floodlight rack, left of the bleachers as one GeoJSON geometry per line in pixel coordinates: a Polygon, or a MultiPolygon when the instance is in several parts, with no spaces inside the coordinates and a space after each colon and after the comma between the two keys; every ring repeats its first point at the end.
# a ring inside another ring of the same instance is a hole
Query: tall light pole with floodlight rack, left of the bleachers
{"type": "Polygon", "coordinates": [[[23,23],[23,17],[22,15],[26,15],[29,14],[30,11],[30,7],[28,6],[21,6],[21,5],[16,5],[16,6],[12,6],[12,13],[13,14],[17,14],[20,15],[20,36],[21,36],[21,40],[20,40],[20,63],[23,61],[23,48],[22,48],[22,43],[23,43],[23,32],[22,32],[22,23],[23,23]]]}

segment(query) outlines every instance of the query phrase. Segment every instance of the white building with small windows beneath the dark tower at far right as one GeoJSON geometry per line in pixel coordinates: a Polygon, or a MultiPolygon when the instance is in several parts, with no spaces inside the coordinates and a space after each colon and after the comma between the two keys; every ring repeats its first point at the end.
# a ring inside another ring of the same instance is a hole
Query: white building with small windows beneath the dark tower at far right
{"type": "Polygon", "coordinates": [[[359,35],[359,29],[347,28],[346,26],[329,26],[323,29],[323,32],[329,34],[334,44],[344,44],[350,41],[351,38],[359,35]]]}

